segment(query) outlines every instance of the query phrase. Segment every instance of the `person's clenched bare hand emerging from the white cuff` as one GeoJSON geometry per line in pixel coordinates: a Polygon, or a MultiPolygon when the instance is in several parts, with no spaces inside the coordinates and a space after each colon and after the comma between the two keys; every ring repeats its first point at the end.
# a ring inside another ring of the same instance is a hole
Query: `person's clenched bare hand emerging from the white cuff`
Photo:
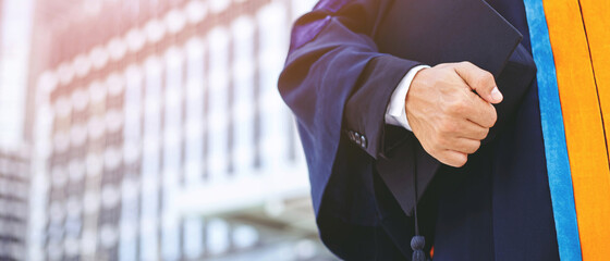
{"type": "Polygon", "coordinates": [[[469,62],[444,63],[415,75],[405,98],[406,119],[426,152],[459,167],[496,124],[491,103],[501,101],[489,72],[469,62]]]}

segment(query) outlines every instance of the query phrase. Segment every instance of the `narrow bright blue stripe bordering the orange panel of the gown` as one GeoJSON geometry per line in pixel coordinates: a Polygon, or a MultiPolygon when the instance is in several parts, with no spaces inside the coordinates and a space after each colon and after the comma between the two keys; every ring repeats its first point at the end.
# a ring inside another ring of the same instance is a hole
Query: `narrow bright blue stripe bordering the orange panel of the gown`
{"type": "Polygon", "coordinates": [[[561,260],[583,260],[572,174],[559,99],[557,72],[542,0],[525,0],[532,51],[538,67],[538,97],[549,187],[561,260]]]}

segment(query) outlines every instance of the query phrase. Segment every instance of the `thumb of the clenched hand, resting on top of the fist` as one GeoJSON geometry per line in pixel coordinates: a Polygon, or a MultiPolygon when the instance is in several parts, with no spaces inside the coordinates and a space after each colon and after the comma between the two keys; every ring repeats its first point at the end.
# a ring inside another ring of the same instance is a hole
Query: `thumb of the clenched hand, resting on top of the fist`
{"type": "Polygon", "coordinates": [[[469,62],[455,65],[455,72],[477,95],[489,103],[500,103],[503,99],[493,75],[469,62]]]}

